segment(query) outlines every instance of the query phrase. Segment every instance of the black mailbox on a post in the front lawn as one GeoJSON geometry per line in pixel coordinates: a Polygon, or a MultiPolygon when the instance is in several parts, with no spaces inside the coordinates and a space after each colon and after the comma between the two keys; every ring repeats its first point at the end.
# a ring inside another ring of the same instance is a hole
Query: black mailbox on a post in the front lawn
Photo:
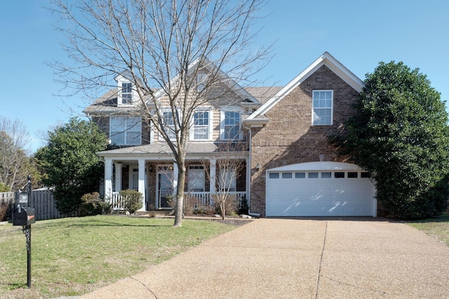
{"type": "Polygon", "coordinates": [[[31,176],[28,176],[28,193],[19,194],[17,208],[13,211],[13,225],[22,225],[22,232],[27,238],[27,285],[31,288],[31,225],[36,221],[34,209],[22,207],[31,200],[31,176]]]}

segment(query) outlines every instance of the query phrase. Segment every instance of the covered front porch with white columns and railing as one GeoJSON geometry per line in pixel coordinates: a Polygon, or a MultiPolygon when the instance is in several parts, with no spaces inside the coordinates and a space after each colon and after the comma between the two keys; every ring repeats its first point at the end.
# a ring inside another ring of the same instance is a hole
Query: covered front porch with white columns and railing
{"type": "MultiPolygon", "coordinates": [[[[114,209],[121,209],[119,191],[137,190],[143,195],[141,211],[172,209],[170,200],[175,197],[179,168],[170,155],[142,153],[136,148],[133,151],[128,148],[129,153],[123,153],[124,150],[126,148],[100,153],[105,158],[105,198],[114,209]]],[[[193,204],[195,209],[213,206],[214,196],[222,191],[238,203],[248,199],[250,169],[246,166],[249,165],[246,153],[236,153],[232,157],[243,162],[237,172],[221,169],[217,163],[221,156],[210,152],[189,152],[186,156],[185,202],[193,204]]]]}

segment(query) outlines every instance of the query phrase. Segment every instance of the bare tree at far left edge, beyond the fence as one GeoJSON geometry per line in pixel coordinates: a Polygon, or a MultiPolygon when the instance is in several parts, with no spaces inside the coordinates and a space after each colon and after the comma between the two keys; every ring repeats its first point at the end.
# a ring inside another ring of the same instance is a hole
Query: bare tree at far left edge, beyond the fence
{"type": "Polygon", "coordinates": [[[31,141],[20,120],[0,116],[0,183],[18,190],[27,182],[29,158],[26,147],[31,141]]]}

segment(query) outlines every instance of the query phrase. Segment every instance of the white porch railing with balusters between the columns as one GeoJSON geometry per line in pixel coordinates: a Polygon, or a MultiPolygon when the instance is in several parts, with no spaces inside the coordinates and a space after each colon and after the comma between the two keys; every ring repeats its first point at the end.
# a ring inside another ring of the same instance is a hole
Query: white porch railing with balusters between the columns
{"type": "MultiPolygon", "coordinates": [[[[212,207],[213,206],[213,195],[216,193],[210,192],[186,192],[184,193],[185,200],[192,200],[191,203],[195,209],[199,209],[200,207],[212,207]]],[[[220,193],[218,193],[220,194],[220,193]]],[[[243,197],[246,197],[246,191],[239,192],[229,192],[229,200],[234,200],[237,204],[237,207],[241,208],[241,203],[243,197]]],[[[123,199],[120,196],[119,192],[113,192],[112,198],[109,200],[109,203],[112,204],[112,208],[116,211],[123,210],[123,199]]]]}

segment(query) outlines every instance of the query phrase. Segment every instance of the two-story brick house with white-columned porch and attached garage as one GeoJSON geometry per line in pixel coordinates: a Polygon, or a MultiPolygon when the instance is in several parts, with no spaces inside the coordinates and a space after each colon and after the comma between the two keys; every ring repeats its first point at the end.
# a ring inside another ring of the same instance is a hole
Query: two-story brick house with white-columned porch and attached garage
{"type": "MultiPolygon", "coordinates": [[[[105,195],[134,189],[144,195],[145,210],[168,209],[178,165],[157,130],[138,113],[133,83],[126,76],[116,82],[116,89],[84,111],[113,145],[98,153],[105,158],[105,195]]],[[[377,215],[369,174],[337,155],[328,140],[356,113],[351,104],[363,82],[351,71],[323,53],[284,87],[232,83],[227,88],[226,97],[199,107],[192,116],[185,165],[189,196],[206,204],[221,188],[217,174],[227,172],[229,190],[236,198],[246,197],[250,214],[377,215]],[[219,144],[229,141],[248,145],[226,153],[244,160],[238,175],[216,167],[223,155],[219,144]]]]}

